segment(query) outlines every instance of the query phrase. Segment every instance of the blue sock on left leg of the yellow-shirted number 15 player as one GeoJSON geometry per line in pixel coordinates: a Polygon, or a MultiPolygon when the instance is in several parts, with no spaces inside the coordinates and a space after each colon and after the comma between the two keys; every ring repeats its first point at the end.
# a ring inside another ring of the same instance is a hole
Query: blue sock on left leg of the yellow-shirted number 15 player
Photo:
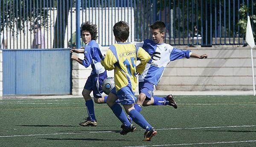
{"type": "Polygon", "coordinates": [[[116,115],[116,117],[122,122],[122,124],[125,125],[125,127],[128,128],[131,126],[131,123],[128,121],[128,118],[126,117],[124,110],[119,104],[115,103],[111,107],[111,110],[116,115]]]}

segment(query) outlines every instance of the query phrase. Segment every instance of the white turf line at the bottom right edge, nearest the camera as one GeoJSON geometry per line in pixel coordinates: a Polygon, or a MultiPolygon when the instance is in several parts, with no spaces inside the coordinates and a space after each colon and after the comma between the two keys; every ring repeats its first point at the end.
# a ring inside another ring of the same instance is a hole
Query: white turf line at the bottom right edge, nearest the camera
{"type": "Polygon", "coordinates": [[[143,146],[129,146],[129,147],[163,147],[163,146],[183,146],[183,145],[201,145],[201,144],[232,144],[232,143],[242,143],[242,142],[256,142],[256,140],[248,141],[222,141],[222,142],[201,142],[193,144],[161,144],[161,145],[143,145],[143,146]]]}

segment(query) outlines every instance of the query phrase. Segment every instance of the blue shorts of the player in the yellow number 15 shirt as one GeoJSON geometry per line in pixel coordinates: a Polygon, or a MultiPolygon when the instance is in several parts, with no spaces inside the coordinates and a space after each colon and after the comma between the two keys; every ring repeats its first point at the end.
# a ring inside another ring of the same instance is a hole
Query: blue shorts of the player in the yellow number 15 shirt
{"type": "Polygon", "coordinates": [[[135,93],[131,92],[128,87],[123,87],[118,92],[116,92],[116,87],[114,87],[111,92],[117,96],[122,105],[134,104],[137,101],[137,98],[134,96],[135,93]]]}

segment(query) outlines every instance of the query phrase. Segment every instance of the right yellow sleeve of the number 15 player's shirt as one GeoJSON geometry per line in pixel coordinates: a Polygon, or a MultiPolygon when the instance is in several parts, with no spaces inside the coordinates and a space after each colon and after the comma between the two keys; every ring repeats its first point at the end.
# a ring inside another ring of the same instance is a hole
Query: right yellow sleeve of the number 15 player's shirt
{"type": "Polygon", "coordinates": [[[148,61],[150,60],[151,57],[143,48],[139,47],[137,50],[137,58],[138,58],[138,60],[140,60],[140,64],[138,66],[136,66],[136,70],[137,70],[137,72],[142,74],[142,72],[145,69],[146,64],[148,63],[148,61]]]}

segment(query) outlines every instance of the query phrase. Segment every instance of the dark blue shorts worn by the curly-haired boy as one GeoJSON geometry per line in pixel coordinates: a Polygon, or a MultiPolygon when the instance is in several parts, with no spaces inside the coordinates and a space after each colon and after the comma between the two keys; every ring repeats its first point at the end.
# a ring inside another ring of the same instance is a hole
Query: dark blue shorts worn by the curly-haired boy
{"type": "Polygon", "coordinates": [[[90,75],[84,85],[84,89],[92,90],[94,98],[102,98],[102,82],[107,77],[106,71],[98,75],[90,75]]]}

